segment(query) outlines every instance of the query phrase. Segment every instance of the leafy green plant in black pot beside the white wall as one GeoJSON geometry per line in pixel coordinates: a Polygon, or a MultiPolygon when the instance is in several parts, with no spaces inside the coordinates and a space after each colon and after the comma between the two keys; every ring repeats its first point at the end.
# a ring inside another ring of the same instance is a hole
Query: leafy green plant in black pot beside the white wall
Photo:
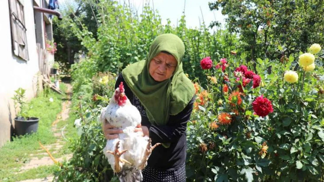
{"type": "Polygon", "coordinates": [[[12,98],[15,103],[15,108],[17,108],[17,104],[19,104],[20,107],[20,111],[14,119],[17,135],[31,134],[37,132],[38,129],[39,118],[28,116],[27,105],[26,102],[24,102],[25,92],[25,89],[18,88],[12,98]]]}

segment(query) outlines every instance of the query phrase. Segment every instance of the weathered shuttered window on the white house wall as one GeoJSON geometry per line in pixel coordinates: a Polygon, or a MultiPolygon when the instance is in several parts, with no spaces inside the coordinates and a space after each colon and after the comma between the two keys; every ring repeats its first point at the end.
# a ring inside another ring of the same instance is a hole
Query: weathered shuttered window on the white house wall
{"type": "Polygon", "coordinates": [[[9,0],[12,49],[16,56],[29,59],[24,6],[20,0],[9,0]]]}

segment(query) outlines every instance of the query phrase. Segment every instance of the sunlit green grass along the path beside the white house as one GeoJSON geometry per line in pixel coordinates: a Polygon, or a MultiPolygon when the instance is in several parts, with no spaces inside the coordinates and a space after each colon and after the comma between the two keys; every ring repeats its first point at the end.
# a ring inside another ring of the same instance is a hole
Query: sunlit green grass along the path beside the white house
{"type": "MultiPolygon", "coordinates": [[[[62,91],[66,90],[65,84],[60,84],[60,87],[62,91]]],[[[37,156],[37,153],[40,153],[38,151],[40,149],[39,141],[43,145],[56,142],[56,138],[51,131],[51,124],[56,119],[56,115],[61,112],[62,99],[65,97],[66,95],[50,91],[48,97],[41,93],[29,102],[29,115],[40,119],[38,131],[31,135],[13,137],[12,142],[8,142],[0,148],[0,181],[38,178],[39,175],[48,175],[55,170],[53,166],[42,166],[40,169],[30,169],[19,173],[19,175],[14,174],[19,171],[21,166],[28,163],[31,157],[34,157],[30,156],[30,154],[36,154],[37,156]],[[54,101],[50,102],[49,98],[53,98],[54,101]]]]}

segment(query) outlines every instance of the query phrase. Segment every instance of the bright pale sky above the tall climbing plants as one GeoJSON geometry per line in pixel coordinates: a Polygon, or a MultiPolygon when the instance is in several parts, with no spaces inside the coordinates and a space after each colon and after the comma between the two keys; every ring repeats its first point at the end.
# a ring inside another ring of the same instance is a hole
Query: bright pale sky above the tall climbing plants
{"type": "MultiPolygon", "coordinates": [[[[118,1],[120,3],[126,1],[128,4],[128,0],[118,1]]],[[[59,0],[59,3],[63,5],[68,2],[73,2],[73,0],[59,0]]],[[[151,7],[153,7],[154,4],[154,9],[157,10],[161,16],[162,24],[166,24],[169,18],[171,24],[176,26],[177,21],[182,16],[185,2],[185,19],[188,28],[199,27],[199,19],[201,22],[204,19],[206,26],[209,26],[214,20],[219,21],[222,25],[225,24],[225,16],[222,15],[220,10],[209,10],[208,2],[213,2],[213,0],[130,0],[130,2],[138,10],[139,14],[142,13],[143,2],[149,2],[151,7]]],[[[210,30],[210,32],[212,31],[213,30],[210,30]]]]}

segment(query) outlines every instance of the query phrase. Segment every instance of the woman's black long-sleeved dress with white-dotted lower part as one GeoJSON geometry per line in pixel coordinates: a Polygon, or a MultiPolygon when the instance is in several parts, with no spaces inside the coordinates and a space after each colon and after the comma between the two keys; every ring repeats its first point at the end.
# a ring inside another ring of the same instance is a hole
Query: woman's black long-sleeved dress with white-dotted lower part
{"type": "MultiPolygon", "coordinates": [[[[186,129],[187,122],[193,108],[194,98],[177,115],[170,115],[166,125],[156,126],[148,121],[146,111],[140,100],[133,94],[126,84],[122,74],[116,80],[115,88],[123,82],[125,95],[130,102],[139,110],[142,116],[142,125],[149,130],[152,145],[156,143],[170,143],[170,147],[157,146],[150,155],[147,166],[142,171],[146,182],[184,182],[186,181],[185,160],[187,150],[186,129]]],[[[152,101],[158,104],[158,101],[152,101]]]]}

